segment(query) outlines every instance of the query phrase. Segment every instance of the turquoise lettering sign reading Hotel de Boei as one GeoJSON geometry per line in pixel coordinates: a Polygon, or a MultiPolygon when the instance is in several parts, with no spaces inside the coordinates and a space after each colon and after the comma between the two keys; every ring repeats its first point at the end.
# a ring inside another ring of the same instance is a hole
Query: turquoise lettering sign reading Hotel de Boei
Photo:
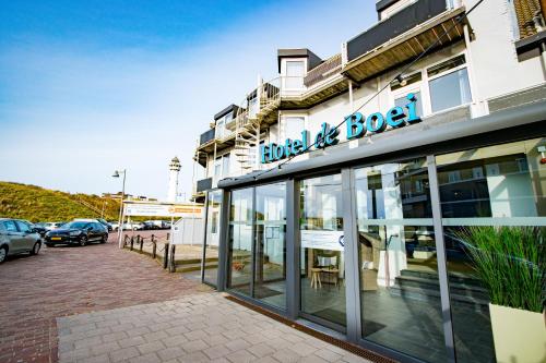
{"type": "MultiPolygon", "coordinates": [[[[402,107],[393,107],[385,114],[375,112],[365,117],[360,112],[355,112],[345,118],[347,140],[364,137],[367,133],[378,134],[383,132],[387,126],[392,129],[402,128],[420,121],[417,116],[417,97],[414,94],[406,96],[407,104],[402,107]]],[[[340,142],[337,136],[340,130],[332,128],[329,123],[322,123],[320,131],[314,138],[311,138],[310,132],[301,131],[299,140],[286,138],[284,144],[270,143],[261,146],[260,158],[262,164],[278,161],[292,156],[305,154],[312,147],[320,149],[327,146],[335,145],[340,142]]]]}

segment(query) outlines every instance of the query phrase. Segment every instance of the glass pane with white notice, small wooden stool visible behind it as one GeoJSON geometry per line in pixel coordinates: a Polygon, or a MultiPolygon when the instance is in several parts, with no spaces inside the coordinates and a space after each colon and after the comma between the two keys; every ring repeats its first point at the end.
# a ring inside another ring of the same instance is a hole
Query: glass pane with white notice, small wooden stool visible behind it
{"type": "Polygon", "coordinates": [[[346,325],[341,176],[300,183],[301,312],[346,325]]]}

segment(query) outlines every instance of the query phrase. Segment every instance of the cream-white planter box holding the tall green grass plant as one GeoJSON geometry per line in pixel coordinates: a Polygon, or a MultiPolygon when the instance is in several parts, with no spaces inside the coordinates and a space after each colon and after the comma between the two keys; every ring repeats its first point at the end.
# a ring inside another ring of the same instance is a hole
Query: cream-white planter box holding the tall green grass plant
{"type": "Polygon", "coordinates": [[[489,304],[497,363],[546,362],[544,315],[489,304]]]}

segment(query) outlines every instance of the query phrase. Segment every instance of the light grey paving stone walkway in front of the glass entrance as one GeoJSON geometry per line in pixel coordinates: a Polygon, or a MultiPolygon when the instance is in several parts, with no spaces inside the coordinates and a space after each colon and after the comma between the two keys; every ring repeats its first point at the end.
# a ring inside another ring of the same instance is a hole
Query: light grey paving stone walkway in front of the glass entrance
{"type": "Polygon", "coordinates": [[[59,361],[369,362],[221,293],[57,318],[59,361]]]}

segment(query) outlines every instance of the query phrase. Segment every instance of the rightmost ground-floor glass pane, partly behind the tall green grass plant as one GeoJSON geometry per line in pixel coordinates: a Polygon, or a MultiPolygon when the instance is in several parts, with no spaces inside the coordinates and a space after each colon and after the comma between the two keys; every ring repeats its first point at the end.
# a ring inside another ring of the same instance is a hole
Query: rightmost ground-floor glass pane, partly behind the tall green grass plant
{"type": "Polygon", "coordinates": [[[468,226],[544,226],[546,140],[496,145],[437,157],[458,362],[495,362],[489,295],[461,238],[468,226]]]}

